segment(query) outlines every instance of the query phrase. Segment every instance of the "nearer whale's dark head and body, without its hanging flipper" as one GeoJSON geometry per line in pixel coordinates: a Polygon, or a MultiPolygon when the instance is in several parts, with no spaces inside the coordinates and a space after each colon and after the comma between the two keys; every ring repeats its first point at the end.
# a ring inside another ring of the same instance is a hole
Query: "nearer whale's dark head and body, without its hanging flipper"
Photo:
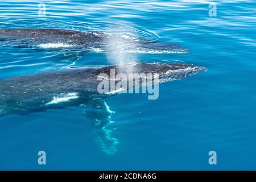
{"type": "MultiPolygon", "coordinates": [[[[123,73],[157,73],[159,82],[178,80],[204,71],[189,64],[131,63],[101,67],[75,67],[59,71],[39,72],[0,80],[0,115],[79,106],[90,100],[105,98],[97,86],[98,75],[110,71],[123,73]]],[[[129,88],[127,88],[129,89],[129,88]]]]}

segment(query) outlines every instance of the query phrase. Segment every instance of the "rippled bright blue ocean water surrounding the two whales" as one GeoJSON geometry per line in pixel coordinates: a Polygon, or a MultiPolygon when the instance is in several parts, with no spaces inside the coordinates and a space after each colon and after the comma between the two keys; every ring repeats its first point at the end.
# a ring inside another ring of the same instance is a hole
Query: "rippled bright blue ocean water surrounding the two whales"
{"type": "MultiPolygon", "coordinates": [[[[158,100],[119,94],[106,103],[114,121],[102,137],[83,107],[0,118],[0,169],[255,169],[255,1],[0,1],[0,28],[64,28],[136,35],[191,49],[137,54],[134,61],[176,61],[207,72],[159,85],[158,100]],[[40,3],[46,15],[39,16],[40,3]],[[216,16],[209,10],[216,6],[216,16]],[[217,165],[209,165],[209,151],[217,165]],[[47,164],[38,164],[46,151],[47,164]]],[[[118,62],[120,57],[115,57],[118,62]]],[[[123,58],[122,58],[123,59],[123,58]]],[[[0,78],[109,65],[105,53],[0,47],[0,78]]],[[[1,85],[0,85],[1,86],[1,85]]]]}

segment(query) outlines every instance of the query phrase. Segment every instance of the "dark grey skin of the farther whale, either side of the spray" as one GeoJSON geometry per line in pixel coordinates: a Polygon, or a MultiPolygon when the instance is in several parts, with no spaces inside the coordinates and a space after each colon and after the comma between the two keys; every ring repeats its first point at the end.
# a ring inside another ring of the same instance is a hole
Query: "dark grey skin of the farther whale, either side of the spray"
{"type": "MultiPolygon", "coordinates": [[[[33,47],[37,44],[44,43],[65,43],[74,46],[74,49],[90,49],[101,48],[108,51],[108,42],[114,39],[113,36],[104,34],[103,32],[93,31],[77,31],[77,30],[64,30],[55,28],[0,28],[0,41],[9,41],[7,44],[15,44],[20,47],[33,47]],[[16,42],[15,42],[16,40],[16,42]]],[[[175,44],[168,44],[155,41],[139,40],[139,42],[130,42],[131,49],[146,49],[146,52],[155,51],[169,51],[177,53],[187,53],[189,49],[177,46],[175,44]]],[[[140,51],[141,52],[141,51],[140,51]]]]}

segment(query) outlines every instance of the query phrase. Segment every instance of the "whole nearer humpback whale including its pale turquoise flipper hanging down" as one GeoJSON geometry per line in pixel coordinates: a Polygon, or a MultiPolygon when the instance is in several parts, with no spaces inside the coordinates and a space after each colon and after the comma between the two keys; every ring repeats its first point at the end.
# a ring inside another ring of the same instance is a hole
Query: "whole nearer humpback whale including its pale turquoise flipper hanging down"
{"type": "MultiPolygon", "coordinates": [[[[123,73],[156,73],[159,82],[179,80],[195,75],[206,68],[189,64],[130,63],[97,67],[69,67],[57,71],[32,73],[0,80],[0,117],[8,114],[29,114],[47,109],[82,106],[83,114],[97,135],[97,143],[107,154],[116,152],[117,138],[112,137],[109,126],[113,111],[104,98],[118,92],[99,93],[101,73],[111,78],[123,73]]],[[[133,86],[133,85],[132,85],[133,86]]],[[[139,85],[140,87],[142,85],[139,85]]],[[[130,87],[129,87],[130,88],[130,87]]],[[[129,89],[127,88],[127,89],[129,89]]]]}

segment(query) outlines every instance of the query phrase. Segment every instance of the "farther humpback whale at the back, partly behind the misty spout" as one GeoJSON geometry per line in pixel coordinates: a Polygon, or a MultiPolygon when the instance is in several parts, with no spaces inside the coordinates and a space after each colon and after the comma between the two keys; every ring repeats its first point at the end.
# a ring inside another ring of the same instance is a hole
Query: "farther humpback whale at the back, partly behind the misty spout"
{"type": "Polygon", "coordinates": [[[0,28],[4,46],[35,49],[66,49],[92,52],[124,51],[127,53],[187,53],[189,49],[174,44],[116,36],[104,32],[53,28],[0,28]],[[120,44],[121,43],[121,44],[120,44]],[[117,45],[118,44],[118,45],[117,45]],[[120,50],[122,46],[122,50],[120,50]]]}

